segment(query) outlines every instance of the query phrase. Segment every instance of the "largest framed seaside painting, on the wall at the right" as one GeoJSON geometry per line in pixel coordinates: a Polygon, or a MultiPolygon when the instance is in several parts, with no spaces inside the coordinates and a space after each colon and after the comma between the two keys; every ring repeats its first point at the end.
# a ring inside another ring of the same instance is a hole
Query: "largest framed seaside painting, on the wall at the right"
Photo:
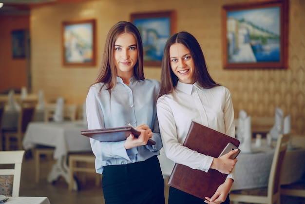
{"type": "Polygon", "coordinates": [[[288,0],[223,6],[225,69],[288,67],[288,0]]]}

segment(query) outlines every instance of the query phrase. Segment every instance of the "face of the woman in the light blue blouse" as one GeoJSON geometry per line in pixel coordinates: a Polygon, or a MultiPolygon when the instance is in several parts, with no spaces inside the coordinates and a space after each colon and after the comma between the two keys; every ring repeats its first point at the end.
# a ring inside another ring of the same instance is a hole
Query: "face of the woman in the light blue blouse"
{"type": "Polygon", "coordinates": [[[138,60],[136,41],[132,34],[120,34],[114,42],[114,64],[117,76],[133,76],[133,66],[138,60]]]}

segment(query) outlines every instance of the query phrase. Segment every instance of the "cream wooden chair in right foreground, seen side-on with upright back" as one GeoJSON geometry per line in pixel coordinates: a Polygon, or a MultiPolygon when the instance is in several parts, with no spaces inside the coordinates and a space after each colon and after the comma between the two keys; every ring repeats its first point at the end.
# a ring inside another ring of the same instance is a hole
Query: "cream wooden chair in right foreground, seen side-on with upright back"
{"type": "MultiPolygon", "coordinates": [[[[274,151],[274,156],[269,173],[267,188],[231,191],[230,201],[256,203],[256,204],[280,204],[280,177],[281,168],[289,143],[290,134],[280,135],[274,151]]],[[[238,175],[237,175],[238,176],[238,175]]]]}

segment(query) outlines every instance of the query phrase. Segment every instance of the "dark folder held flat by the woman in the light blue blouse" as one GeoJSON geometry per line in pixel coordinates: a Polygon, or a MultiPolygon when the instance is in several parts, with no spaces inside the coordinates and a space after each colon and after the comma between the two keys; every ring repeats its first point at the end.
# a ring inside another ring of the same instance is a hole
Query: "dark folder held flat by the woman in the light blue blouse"
{"type": "MultiPolygon", "coordinates": [[[[80,134],[93,138],[100,142],[118,142],[126,140],[126,138],[133,133],[134,137],[138,137],[141,132],[130,126],[94,129],[94,130],[81,130],[80,134]]],[[[155,142],[149,139],[147,145],[153,145],[155,142]]]]}

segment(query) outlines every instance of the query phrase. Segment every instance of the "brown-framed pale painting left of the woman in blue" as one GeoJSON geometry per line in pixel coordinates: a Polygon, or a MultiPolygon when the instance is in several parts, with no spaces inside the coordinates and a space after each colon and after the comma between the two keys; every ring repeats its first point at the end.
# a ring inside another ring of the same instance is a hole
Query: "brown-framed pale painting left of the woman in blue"
{"type": "Polygon", "coordinates": [[[95,20],[62,23],[63,65],[95,66],[95,20]]]}

